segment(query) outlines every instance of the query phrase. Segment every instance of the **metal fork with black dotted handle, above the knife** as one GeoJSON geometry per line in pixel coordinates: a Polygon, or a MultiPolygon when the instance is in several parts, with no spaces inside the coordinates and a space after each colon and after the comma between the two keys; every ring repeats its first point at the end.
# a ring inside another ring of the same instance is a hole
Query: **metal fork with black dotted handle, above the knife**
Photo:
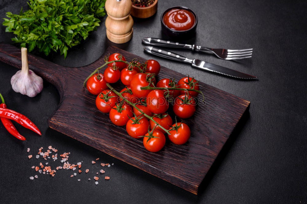
{"type": "Polygon", "coordinates": [[[143,38],[142,42],[147,45],[155,45],[155,46],[162,46],[162,47],[174,47],[174,48],[186,48],[190,50],[196,51],[210,51],[214,53],[217,57],[224,59],[224,60],[238,60],[249,58],[252,55],[253,49],[243,49],[243,50],[228,50],[228,49],[215,49],[209,48],[205,46],[196,46],[196,45],[188,45],[182,44],[178,42],[172,42],[169,40],[158,39],[158,38],[143,38]]]}

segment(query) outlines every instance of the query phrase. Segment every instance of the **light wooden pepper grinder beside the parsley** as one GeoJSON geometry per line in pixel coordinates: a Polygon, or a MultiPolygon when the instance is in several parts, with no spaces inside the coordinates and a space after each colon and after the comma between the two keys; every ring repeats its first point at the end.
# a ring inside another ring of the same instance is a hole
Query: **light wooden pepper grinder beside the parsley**
{"type": "Polygon", "coordinates": [[[107,38],[113,43],[126,43],[132,38],[131,0],[107,0],[105,9],[107,38]]]}

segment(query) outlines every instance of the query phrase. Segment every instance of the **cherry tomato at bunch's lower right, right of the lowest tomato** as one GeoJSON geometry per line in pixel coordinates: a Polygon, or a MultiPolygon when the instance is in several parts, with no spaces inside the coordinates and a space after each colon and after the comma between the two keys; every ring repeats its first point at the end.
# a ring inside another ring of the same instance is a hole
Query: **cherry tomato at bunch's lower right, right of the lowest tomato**
{"type": "Polygon", "coordinates": [[[174,144],[184,144],[188,141],[191,136],[191,130],[185,123],[175,123],[170,128],[169,140],[174,144]],[[173,128],[173,129],[172,129],[173,128]]]}

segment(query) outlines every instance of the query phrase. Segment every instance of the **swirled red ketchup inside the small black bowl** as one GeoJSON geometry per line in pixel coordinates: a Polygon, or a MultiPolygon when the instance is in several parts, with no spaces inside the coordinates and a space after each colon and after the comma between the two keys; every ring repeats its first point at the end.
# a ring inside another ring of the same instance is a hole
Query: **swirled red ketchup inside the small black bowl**
{"type": "Polygon", "coordinates": [[[195,23],[195,16],[188,10],[171,9],[163,17],[165,25],[176,31],[185,31],[195,23]]]}

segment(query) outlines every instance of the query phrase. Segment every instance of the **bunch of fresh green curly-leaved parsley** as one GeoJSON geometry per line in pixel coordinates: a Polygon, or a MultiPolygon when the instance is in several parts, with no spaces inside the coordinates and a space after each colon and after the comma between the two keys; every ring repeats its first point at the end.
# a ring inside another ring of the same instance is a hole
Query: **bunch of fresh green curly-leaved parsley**
{"type": "Polygon", "coordinates": [[[29,0],[29,10],[18,14],[6,13],[3,25],[6,32],[29,52],[37,48],[48,55],[60,50],[67,56],[68,47],[86,39],[89,32],[99,26],[99,18],[105,16],[106,0],[29,0]]]}

